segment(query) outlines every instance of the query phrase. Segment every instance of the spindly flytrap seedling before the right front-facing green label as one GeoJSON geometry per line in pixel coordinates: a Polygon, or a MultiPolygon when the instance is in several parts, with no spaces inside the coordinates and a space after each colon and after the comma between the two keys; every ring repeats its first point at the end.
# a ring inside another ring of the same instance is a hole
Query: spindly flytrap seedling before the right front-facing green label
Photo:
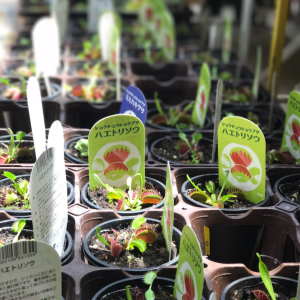
{"type": "Polygon", "coordinates": [[[192,199],[205,203],[205,204],[209,204],[212,205],[213,207],[217,207],[217,208],[224,208],[224,202],[229,201],[229,202],[234,202],[234,200],[232,200],[232,198],[242,198],[243,192],[240,189],[231,189],[228,191],[227,195],[223,195],[223,190],[225,188],[226,182],[228,180],[228,175],[229,175],[229,171],[227,170],[225,172],[226,176],[225,176],[225,180],[223,182],[221,191],[219,193],[219,195],[217,196],[215,193],[215,184],[212,181],[208,181],[205,183],[205,187],[207,189],[207,191],[202,191],[189,177],[189,175],[186,175],[187,179],[189,180],[189,182],[193,185],[193,187],[195,188],[194,190],[190,191],[188,196],[191,197],[192,199]]]}

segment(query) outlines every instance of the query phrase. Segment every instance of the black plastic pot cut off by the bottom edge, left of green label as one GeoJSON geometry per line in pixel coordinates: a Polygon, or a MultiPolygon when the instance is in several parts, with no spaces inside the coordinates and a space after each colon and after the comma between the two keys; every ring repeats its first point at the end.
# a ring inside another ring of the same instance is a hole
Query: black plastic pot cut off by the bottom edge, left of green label
{"type": "MultiPolygon", "coordinates": [[[[174,283],[175,280],[164,278],[164,277],[156,277],[153,285],[152,285],[152,290],[153,288],[156,287],[162,287],[163,289],[170,291],[170,294],[173,294],[173,288],[174,288],[174,283]]],[[[101,300],[102,297],[104,296],[113,296],[114,294],[117,294],[118,292],[123,292],[124,293],[124,299],[126,299],[126,293],[125,293],[125,287],[127,285],[130,285],[131,287],[136,287],[138,286],[140,289],[148,290],[149,285],[146,285],[143,281],[143,277],[136,277],[136,278],[126,278],[123,280],[116,281],[114,283],[111,283],[107,285],[105,288],[101,289],[93,298],[92,300],[101,300]]],[[[109,298],[107,298],[109,299],[109,298]]],[[[176,300],[174,298],[174,300],[176,300]]],[[[202,300],[205,300],[205,298],[202,296],[202,300]]]]}

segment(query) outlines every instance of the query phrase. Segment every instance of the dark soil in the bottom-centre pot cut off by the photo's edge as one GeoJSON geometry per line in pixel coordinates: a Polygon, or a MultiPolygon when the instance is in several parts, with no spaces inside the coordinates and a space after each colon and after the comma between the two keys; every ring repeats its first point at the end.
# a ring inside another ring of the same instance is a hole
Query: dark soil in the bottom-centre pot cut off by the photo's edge
{"type": "MultiPolygon", "coordinates": [[[[155,280],[154,280],[155,282],[155,280]]],[[[148,289],[140,289],[139,287],[132,287],[130,289],[132,300],[136,300],[140,291],[145,295],[148,289]]],[[[153,287],[152,291],[155,294],[155,300],[175,300],[173,298],[173,287],[153,287]]],[[[145,298],[145,297],[144,297],[145,298]]],[[[101,298],[101,300],[124,300],[126,297],[126,290],[119,290],[109,293],[101,298]]]]}

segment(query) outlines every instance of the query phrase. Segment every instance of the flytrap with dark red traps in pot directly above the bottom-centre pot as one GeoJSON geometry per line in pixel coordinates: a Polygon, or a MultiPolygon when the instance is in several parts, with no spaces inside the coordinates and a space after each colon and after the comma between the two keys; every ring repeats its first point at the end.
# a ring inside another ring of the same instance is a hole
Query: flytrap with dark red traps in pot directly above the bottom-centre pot
{"type": "Polygon", "coordinates": [[[146,251],[147,244],[152,244],[157,239],[157,233],[154,227],[151,224],[146,223],[144,217],[137,217],[131,223],[131,228],[134,229],[133,234],[130,238],[121,238],[118,240],[119,233],[112,228],[114,238],[110,238],[106,232],[106,236],[100,235],[101,228],[100,226],[96,229],[97,239],[104,244],[107,248],[110,249],[110,254],[117,258],[124,250],[133,250],[135,247],[138,248],[141,252],[146,251]]]}

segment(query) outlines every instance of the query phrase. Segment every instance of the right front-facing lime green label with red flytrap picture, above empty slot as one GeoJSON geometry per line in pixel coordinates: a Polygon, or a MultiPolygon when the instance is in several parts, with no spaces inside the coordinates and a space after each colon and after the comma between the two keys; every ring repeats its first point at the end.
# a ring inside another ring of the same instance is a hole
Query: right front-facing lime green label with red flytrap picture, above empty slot
{"type": "Polygon", "coordinates": [[[266,141],[260,128],[241,117],[224,118],[218,128],[219,184],[241,190],[252,203],[265,199],[266,141]]]}

